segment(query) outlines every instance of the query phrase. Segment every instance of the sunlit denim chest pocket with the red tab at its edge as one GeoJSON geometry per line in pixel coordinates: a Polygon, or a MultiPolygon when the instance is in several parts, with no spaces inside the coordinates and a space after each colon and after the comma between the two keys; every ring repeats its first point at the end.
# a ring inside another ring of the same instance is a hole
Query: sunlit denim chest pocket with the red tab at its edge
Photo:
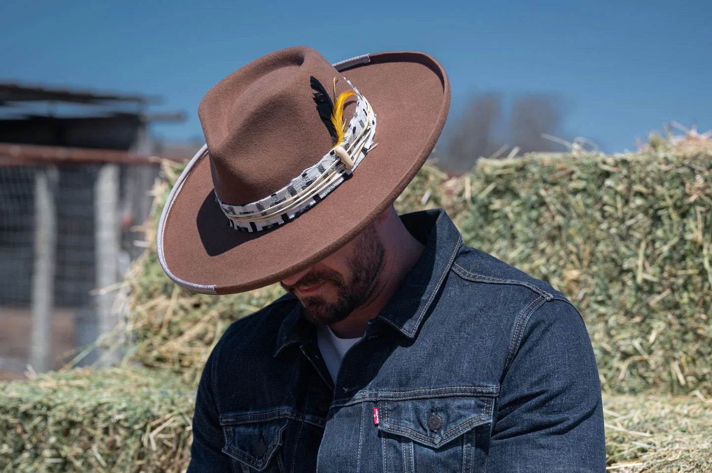
{"type": "Polygon", "coordinates": [[[493,396],[385,400],[377,405],[384,472],[483,470],[493,396]]]}

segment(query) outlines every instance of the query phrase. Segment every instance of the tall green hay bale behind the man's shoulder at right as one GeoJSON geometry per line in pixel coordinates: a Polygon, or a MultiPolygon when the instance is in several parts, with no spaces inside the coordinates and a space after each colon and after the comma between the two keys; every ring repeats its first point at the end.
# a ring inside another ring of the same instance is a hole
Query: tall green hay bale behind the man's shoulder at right
{"type": "Polygon", "coordinates": [[[472,182],[466,242],[567,294],[604,390],[712,393],[712,155],[538,154],[472,182]]]}

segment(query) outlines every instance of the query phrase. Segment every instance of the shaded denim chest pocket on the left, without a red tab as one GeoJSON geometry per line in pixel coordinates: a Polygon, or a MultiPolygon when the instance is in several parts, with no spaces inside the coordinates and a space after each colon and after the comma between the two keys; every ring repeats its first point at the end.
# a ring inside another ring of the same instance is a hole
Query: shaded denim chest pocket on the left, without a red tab
{"type": "Polygon", "coordinates": [[[282,473],[283,432],[290,418],[278,413],[221,416],[225,436],[223,452],[232,459],[238,473],[282,473]]]}

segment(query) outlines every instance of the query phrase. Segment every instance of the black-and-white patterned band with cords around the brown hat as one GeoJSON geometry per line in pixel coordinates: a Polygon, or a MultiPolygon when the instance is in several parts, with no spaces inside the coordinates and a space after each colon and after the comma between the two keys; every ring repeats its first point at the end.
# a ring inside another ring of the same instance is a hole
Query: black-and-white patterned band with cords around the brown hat
{"type": "Polygon", "coordinates": [[[373,138],[376,133],[376,115],[368,100],[351,83],[349,85],[356,94],[356,111],[342,142],[317,164],[305,169],[271,196],[244,206],[224,203],[215,193],[216,201],[229,218],[232,228],[258,232],[283,225],[308,211],[350,178],[366,154],[375,147],[373,138]]]}

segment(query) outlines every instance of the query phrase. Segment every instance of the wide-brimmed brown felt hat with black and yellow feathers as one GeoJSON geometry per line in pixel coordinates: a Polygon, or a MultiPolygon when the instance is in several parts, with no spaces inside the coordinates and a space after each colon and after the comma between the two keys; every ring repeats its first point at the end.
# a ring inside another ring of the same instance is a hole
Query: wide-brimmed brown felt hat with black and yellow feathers
{"type": "Polygon", "coordinates": [[[163,270],[186,289],[231,294],[314,265],[403,191],[433,149],[449,105],[447,75],[425,53],[368,54],[331,65],[312,48],[295,47],[236,70],[200,102],[206,146],[163,209],[157,235],[163,270]],[[358,97],[349,97],[343,112],[346,131],[356,135],[360,124],[372,139],[350,174],[342,166],[342,181],[310,198],[308,208],[260,229],[241,210],[263,211],[285,190],[296,196],[296,179],[335,156],[315,80],[330,98],[355,88],[358,97]],[[374,119],[364,124],[367,110],[374,119]]]}

